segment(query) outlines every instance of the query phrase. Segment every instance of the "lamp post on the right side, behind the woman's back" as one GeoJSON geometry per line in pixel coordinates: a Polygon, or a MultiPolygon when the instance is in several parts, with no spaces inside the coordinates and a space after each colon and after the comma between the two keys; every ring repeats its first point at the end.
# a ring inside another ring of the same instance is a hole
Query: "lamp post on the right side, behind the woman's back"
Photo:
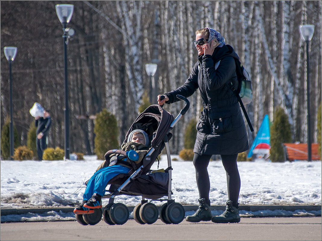
{"type": "Polygon", "coordinates": [[[302,38],[306,42],[306,96],[307,96],[307,109],[308,109],[308,161],[311,161],[311,125],[310,125],[310,81],[309,81],[309,72],[310,72],[310,61],[309,61],[309,52],[308,44],[311,41],[314,33],[314,25],[300,25],[300,33],[302,38]]]}

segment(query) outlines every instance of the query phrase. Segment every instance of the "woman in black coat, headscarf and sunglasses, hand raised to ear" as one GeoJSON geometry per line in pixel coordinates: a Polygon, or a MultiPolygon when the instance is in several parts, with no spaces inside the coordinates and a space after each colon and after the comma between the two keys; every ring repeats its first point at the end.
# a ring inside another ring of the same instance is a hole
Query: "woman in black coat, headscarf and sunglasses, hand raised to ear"
{"type": "Polygon", "coordinates": [[[240,222],[239,191],[240,176],[237,167],[238,153],[248,150],[248,137],[236,94],[227,85],[238,86],[235,58],[237,53],[224,38],[212,28],[196,31],[194,44],[198,61],[185,83],[171,92],[158,95],[158,104],[179,101],[177,94],[191,96],[199,89],[203,99],[203,112],[197,123],[193,163],[199,191],[199,208],[186,221],[240,222]],[[218,66],[215,64],[220,60],[218,66]],[[210,208],[210,181],[208,164],[212,155],[221,155],[227,175],[228,201],[220,216],[212,217],[210,208]]]}

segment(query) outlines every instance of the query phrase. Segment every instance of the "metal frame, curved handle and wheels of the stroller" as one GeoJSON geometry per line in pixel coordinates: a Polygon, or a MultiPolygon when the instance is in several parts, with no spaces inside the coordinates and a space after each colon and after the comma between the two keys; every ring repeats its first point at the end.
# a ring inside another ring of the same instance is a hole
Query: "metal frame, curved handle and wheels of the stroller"
{"type": "MultiPolygon", "coordinates": [[[[163,96],[162,96],[163,97],[163,96]]],[[[156,205],[148,202],[146,198],[144,197],[144,194],[142,194],[142,200],[141,203],[137,204],[137,206],[133,210],[133,217],[134,219],[140,223],[140,224],[152,224],[156,222],[158,217],[160,217],[161,221],[166,224],[178,224],[182,222],[182,220],[185,218],[185,209],[180,203],[176,203],[175,200],[172,199],[172,166],[171,166],[171,155],[170,155],[170,148],[168,143],[168,137],[170,135],[170,138],[172,137],[172,134],[170,131],[173,129],[173,127],[176,125],[176,123],[180,120],[180,118],[187,112],[189,109],[190,103],[189,101],[181,96],[176,96],[178,99],[185,101],[184,108],[180,111],[180,113],[177,115],[177,117],[172,121],[170,124],[169,129],[167,130],[166,134],[164,135],[162,141],[164,143],[164,147],[166,148],[166,155],[167,155],[167,162],[168,162],[168,168],[166,169],[166,172],[168,173],[168,183],[167,183],[167,199],[161,199],[161,198],[147,198],[151,199],[151,201],[166,201],[165,204],[162,205],[160,210],[157,209],[156,205]]],[[[161,106],[162,107],[162,106],[161,106]]],[[[173,118],[172,118],[173,119],[173,118]]],[[[164,148],[163,147],[163,148],[164,148]]],[[[163,149],[162,148],[162,149],[163,149]]],[[[160,152],[162,151],[159,150],[160,152]]],[[[121,150],[111,150],[114,153],[122,153],[122,155],[125,154],[124,151],[121,150]]],[[[109,152],[111,152],[109,151],[109,152]]],[[[151,147],[150,150],[145,155],[145,159],[142,161],[142,165],[137,167],[137,169],[134,169],[134,172],[126,179],[125,182],[123,182],[114,192],[111,194],[104,195],[102,198],[109,198],[109,203],[104,207],[104,209],[94,209],[94,213],[91,214],[75,214],[76,220],[82,224],[82,225],[95,225],[99,223],[102,216],[104,221],[109,225],[122,225],[127,222],[129,218],[129,211],[128,208],[123,203],[114,203],[115,197],[118,195],[131,195],[131,193],[122,193],[122,190],[124,190],[129,183],[131,183],[133,180],[138,178],[140,174],[142,174],[143,170],[146,169],[147,165],[152,165],[151,162],[148,162],[147,159],[156,151],[154,147],[151,147]]],[[[108,153],[109,153],[108,152],[108,153]]],[[[159,153],[160,153],[159,152],[159,153]]],[[[125,154],[126,156],[126,154],[125,154]]],[[[122,174],[119,174],[122,175],[122,174]]],[[[117,179],[118,176],[112,178],[117,179]]],[[[109,184],[109,183],[108,183],[109,184]]],[[[135,195],[135,194],[133,194],[135,195]]],[[[166,195],[163,195],[164,197],[166,195]]]]}

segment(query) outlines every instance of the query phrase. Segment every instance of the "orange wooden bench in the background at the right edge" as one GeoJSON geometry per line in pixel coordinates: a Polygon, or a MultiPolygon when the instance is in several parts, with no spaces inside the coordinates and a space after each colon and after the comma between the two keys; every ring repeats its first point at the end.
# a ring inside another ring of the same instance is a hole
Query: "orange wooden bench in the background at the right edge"
{"type": "MultiPolygon", "coordinates": [[[[285,161],[308,160],[308,144],[283,143],[285,161]]],[[[318,152],[318,144],[311,146],[311,159],[321,160],[318,152]]]]}

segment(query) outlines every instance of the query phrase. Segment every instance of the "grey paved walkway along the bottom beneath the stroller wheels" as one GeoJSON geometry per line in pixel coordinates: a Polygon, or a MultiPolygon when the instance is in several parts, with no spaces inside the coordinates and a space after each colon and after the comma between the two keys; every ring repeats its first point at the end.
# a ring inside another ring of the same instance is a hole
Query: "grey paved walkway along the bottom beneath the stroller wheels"
{"type": "Polygon", "coordinates": [[[82,226],[76,221],[1,223],[1,240],[321,240],[321,217],[242,218],[211,221],[82,226]]]}

